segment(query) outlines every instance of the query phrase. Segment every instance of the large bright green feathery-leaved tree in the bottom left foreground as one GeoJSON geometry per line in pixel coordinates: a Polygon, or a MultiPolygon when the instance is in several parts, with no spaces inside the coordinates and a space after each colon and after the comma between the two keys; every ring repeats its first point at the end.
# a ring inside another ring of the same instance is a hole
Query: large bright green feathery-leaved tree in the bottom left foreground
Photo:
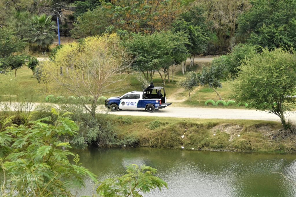
{"type": "Polygon", "coordinates": [[[59,136],[74,135],[77,125],[67,118],[68,113],[61,115],[52,109],[52,114],[56,121],[29,121],[29,116],[20,126],[13,125],[11,119],[0,125],[0,150],[6,150],[0,161],[5,177],[1,183],[3,196],[72,196],[70,189],[84,186],[84,176],[97,181],[93,173],[80,166],[78,154],[68,150],[69,143],[59,140],[59,136]],[[74,164],[68,160],[71,156],[74,164]]]}

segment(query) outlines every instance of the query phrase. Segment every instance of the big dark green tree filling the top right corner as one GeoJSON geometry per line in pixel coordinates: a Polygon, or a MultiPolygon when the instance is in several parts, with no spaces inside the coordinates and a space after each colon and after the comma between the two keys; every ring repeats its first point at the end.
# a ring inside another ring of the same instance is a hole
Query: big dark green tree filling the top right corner
{"type": "Polygon", "coordinates": [[[269,50],[296,46],[296,1],[258,0],[238,19],[238,36],[269,50]]]}

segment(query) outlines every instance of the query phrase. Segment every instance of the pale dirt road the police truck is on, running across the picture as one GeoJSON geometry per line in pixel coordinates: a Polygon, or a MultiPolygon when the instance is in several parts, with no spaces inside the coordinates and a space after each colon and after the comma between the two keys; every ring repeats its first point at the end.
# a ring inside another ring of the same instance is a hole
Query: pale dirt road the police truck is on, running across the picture
{"type": "MultiPolygon", "coordinates": [[[[17,102],[0,102],[0,111],[33,111],[41,103],[17,103],[17,102]]],[[[45,103],[44,103],[45,104],[45,103]]],[[[50,104],[50,103],[48,103],[50,104]]],[[[59,108],[57,104],[50,104],[55,108],[59,108]]],[[[104,105],[99,105],[97,112],[106,110],[104,105]]],[[[218,119],[245,119],[245,120],[266,120],[280,121],[279,117],[274,114],[260,112],[256,110],[242,109],[221,109],[221,108],[186,108],[168,106],[165,109],[155,110],[154,113],[149,113],[145,110],[119,110],[110,112],[115,115],[140,115],[140,116],[155,116],[155,117],[176,117],[176,118],[218,118],[218,119]]],[[[296,123],[296,111],[286,114],[287,120],[296,123]]]]}

